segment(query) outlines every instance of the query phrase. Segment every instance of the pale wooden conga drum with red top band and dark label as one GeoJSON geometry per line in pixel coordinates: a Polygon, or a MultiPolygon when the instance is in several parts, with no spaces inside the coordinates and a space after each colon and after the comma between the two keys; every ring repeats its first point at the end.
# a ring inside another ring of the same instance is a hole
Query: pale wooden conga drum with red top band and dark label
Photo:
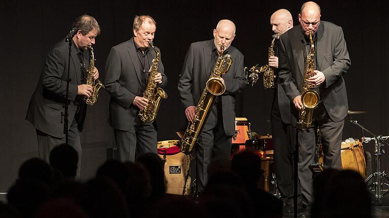
{"type": "Polygon", "coordinates": [[[159,156],[165,161],[164,172],[166,178],[166,193],[182,195],[189,194],[190,177],[188,170],[190,165],[189,155],[180,152],[177,146],[179,140],[167,140],[157,143],[159,156]],[[186,177],[188,179],[186,180],[186,177]]]}

